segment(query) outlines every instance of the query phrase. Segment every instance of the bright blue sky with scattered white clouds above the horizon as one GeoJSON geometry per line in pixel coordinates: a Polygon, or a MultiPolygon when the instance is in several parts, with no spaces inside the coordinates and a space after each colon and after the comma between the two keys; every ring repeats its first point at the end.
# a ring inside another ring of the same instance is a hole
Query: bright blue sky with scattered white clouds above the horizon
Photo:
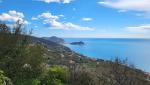
{"type": "Polygon", "coordinates": [[[37,37],[150,38],[150,0],[0,0],[0,21],[37,37]]]}

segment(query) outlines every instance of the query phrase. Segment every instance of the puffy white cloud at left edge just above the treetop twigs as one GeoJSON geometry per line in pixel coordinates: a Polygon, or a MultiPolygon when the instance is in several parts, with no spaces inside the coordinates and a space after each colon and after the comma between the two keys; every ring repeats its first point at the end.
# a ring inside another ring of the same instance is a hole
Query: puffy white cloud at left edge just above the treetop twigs
{"type": "Polygon", "coordinates": [[[29,24],[28,21],[24,20],[24,14],[21,12],[10,10],[8,13],[0,14],[0,21],[17,22],[18,20],[20,23],[29,24]]]}

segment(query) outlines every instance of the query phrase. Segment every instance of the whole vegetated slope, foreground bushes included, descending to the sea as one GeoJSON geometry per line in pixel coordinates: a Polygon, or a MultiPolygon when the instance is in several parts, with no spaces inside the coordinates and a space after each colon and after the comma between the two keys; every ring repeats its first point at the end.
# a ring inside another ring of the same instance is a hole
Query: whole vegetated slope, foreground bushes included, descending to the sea
{"type": "Polygon", "coordinates": [[[31,37],[19,22],[0,24],[0,85],[150,85],[146,78],[126,60],[91,59],[31,37]]]}

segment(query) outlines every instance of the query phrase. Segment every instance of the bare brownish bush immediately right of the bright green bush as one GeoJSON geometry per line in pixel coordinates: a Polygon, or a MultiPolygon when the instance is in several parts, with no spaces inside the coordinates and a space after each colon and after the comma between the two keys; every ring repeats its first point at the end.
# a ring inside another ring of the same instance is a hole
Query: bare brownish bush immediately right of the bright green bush
{"type": "Polygon", "coordinates": [[[93,73],[86,66],[73,64],[69,68],[72,85],[96,85],[93,73]]]}

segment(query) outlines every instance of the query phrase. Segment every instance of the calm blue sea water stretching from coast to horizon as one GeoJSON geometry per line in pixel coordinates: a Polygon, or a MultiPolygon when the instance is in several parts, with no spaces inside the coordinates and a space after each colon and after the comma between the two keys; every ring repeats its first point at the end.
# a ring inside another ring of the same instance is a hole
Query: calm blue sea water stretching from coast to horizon
{"type": "Polygon", "coordinates": [[[65,38],[65,41],[83,41],[83,46],[66,46],[85,56],[104,60],[127,58],[130,64],[150,72],[150,39],[65,38]]]}

